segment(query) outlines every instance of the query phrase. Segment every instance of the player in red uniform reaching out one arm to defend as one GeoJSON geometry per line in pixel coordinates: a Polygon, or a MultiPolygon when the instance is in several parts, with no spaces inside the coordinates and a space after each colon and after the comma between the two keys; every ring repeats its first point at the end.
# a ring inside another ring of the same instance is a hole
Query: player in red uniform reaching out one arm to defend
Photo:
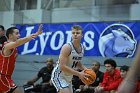
{"type": "Polygon", "coordinates": [[[16,47],[36,38],[41,33],[42,25],[39,26],[36,33],[21,39],[19,39],[20,33],[16,27],[10,27],[6,31],[8,40],[4,43],[2,51],[0,52],[0,93],[21,93],[11,79],[17,57],[16,47]]]}

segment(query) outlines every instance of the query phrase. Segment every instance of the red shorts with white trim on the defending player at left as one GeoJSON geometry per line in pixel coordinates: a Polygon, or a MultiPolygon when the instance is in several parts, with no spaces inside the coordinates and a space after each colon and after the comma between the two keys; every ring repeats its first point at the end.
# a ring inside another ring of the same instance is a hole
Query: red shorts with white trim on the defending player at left
{"type": "Polygon", "coordinates": [[[13,82],[10,76],[0,74],[0,91],[8,92],[12,88],[15,88],[16,84],[13,82]]]}

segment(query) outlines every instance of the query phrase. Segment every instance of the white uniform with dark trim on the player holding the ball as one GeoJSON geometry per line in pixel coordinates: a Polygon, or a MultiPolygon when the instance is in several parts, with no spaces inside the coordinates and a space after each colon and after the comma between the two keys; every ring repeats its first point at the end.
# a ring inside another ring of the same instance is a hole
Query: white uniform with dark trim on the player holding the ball
{"type": "MultiPolygon", "coordinates": [[[[75,68],[77,64],[82,61],[84,55],[84,46],[81,44],[82,50],[80,53],[78,53],[71,42],[68,44],[71,47],[71,53],[69,55],[68,62],[66,63],[66,65],[70,68],[75,68]]],[[[69,73],[64,73],[63,71],[60,70],[60,64],[58,60],[56,67],[53,69],[52,77],[51,77],[51,80],[55,85],[55,87],[57,89],[60,89],[60,86],[61,88],[68,87],[69,83],[71,83],[72,81],[72,77],[73,75],[69,73]],[[58,84],[62,83],[62,84],[59,85],[58,87],[57,83],[58,84]]]]}

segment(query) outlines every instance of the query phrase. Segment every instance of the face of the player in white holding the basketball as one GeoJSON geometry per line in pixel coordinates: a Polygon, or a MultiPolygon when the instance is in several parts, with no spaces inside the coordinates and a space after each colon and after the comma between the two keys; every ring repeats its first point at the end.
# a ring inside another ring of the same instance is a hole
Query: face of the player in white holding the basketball
{"type": "Polygon", "coordinates": [[[72,40],[81,40],[82,38],[82,31],[81,30],[76,30],[72,29],[72,40]]]}

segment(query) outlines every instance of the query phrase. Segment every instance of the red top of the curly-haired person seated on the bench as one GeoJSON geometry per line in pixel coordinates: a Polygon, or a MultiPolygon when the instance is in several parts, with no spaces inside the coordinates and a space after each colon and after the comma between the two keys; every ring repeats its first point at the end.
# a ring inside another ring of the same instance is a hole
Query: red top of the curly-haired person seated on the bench
{"type": "Polygon", "coordinates": [[[120,70],[118,69],[115,69],[112,75],[109,74],[108,72],[105,72],[101,86],[104,87],[104,91],[116,90],[118,83],[120,82],[119,81],[120,78],[121,78],[120,70]],[[119,81],[119,82],[116,82],[116,81],[119,81]]]}

